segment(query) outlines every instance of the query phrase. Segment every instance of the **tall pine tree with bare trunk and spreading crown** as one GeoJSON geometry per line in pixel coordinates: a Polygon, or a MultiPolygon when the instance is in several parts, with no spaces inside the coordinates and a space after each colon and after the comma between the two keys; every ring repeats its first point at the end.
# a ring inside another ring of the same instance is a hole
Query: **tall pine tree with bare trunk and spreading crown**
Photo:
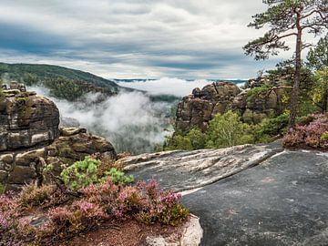
{"type": "Polygon", "coordinates": [[[303,42],[307,31],[314,36],[326,32],[328,27],[328,0],[263,0],[268,9],[253,16],[249,26],[260,29],[266,25],[269,31],[244,46],[246,55],[255,59],[276,56],[279,50],[289,50],[285,39],[295,37],[295,75],[292,87],[289,130],[295,125],[302,70],[302,50],[309,45],[303,42]]]}

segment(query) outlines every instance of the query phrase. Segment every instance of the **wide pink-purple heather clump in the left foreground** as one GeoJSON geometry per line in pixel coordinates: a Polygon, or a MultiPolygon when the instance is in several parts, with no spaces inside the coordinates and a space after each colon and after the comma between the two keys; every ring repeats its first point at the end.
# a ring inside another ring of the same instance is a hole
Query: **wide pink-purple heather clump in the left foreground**
{"type": "MultiPolygon", "coordinates": [[[[29,186],[33,194],[44,194],[46,188],[29,186]]],[[[22,192],[17,197],[0,196],[0,245],[56,245],[79,233],[88,231],[106,220],[138,220],[147,224],[176,226],[186,220],[189,210],[179,203],[180,195],[160,190],[155,180],[134,186],[115,184],[110,177],[104,183],[91,184],[79,191],[75,200],[52,206],[42,195],[31,195],[28,204],[42,204],[44,210],[22,210],[22,192]],[[32,201],[32,197],[36,201],[32,201]],[[42,198],[42,199],[40,199],[42,198]],[[46,208],[46,209],[45,209],[46,208]],[[35,213],[34,213],[35,212],[35,213]],[[32,225],[34,216],[44,222],[32,225]],[[28,215],[28,216],[26,216],[28,215]]]]}

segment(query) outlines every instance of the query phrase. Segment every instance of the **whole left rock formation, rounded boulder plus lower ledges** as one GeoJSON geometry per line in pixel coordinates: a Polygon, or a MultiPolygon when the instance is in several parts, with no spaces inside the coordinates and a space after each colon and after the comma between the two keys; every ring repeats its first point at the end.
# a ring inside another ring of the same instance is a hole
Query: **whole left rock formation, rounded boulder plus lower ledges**
{"type": "Polygon", "coordinates": [[[46,181],[42,174],[46,164],[59,174],[62,164],[94,153],[116,159],[115,149],[105,138],[87,134],[84,128],[58,128],[58,109],[46,97],[19,90],[1,95],[0,184],[5,190],[46,181]]]}

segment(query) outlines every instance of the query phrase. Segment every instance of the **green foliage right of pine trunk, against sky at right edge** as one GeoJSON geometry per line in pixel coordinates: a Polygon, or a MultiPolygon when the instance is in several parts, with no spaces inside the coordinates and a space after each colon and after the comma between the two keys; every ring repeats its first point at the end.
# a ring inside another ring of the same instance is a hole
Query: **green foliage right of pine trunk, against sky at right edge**
{"type": "Polygon", "coordinates": [[[320,38],[317,46],[311,48],[307,55],[307,66],[313,70],[322,70],[328,67],[328,34],[320,38]]]}

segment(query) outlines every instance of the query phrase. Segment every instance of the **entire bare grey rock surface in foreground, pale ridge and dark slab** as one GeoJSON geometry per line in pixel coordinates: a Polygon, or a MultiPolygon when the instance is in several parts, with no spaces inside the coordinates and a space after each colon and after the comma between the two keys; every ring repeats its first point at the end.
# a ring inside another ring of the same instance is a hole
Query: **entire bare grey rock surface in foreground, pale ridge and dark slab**
{"type": "Polygon", "coordinates": [[[183,192],[182,202],[200,217],[200,245],[328,245],[326,153],[273,143],[121,161],[138,179],[198,188],[183,192]]]}

